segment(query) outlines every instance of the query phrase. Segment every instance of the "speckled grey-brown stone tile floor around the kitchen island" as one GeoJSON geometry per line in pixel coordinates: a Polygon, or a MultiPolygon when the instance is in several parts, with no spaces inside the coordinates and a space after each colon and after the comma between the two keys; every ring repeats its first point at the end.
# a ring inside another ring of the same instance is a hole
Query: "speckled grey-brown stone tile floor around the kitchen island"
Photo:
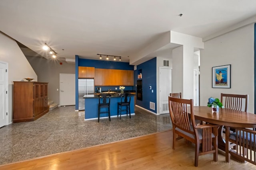
{"type": "Polygon", "coordinates": [[[131,119],[84,121],[84,111],[62,106],[36,121],[0,128],[0,164],[80,149],[172,129],[170,115],[154,115],[135,107],[131,119]]]}

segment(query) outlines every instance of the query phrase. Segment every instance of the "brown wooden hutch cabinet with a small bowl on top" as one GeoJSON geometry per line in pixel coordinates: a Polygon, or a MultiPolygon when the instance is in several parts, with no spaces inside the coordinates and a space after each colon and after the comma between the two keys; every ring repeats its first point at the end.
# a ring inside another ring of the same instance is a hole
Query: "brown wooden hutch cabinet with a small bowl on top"
{"type": "Polygon", "coordinates": [[[34,121],[48,113],[48,83],[14,82],[13,122],[34,121]]]}

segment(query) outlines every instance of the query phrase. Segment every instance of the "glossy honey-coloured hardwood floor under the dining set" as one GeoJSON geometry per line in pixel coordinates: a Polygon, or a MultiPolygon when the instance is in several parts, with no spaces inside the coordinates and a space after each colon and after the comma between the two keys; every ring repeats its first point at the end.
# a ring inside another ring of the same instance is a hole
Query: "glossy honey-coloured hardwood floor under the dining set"
{"type": "Polygon", "coordinates": [[[40,158],[4,164],[0,170],[248,170],[256,166],[231,160],[225,162],[219,151],[218,162],[213,154],[199,156],[194,166],[194,145],[177,141],[172,150],[172,131],[164,131],[112,143],[86,147],[40,158]]]}

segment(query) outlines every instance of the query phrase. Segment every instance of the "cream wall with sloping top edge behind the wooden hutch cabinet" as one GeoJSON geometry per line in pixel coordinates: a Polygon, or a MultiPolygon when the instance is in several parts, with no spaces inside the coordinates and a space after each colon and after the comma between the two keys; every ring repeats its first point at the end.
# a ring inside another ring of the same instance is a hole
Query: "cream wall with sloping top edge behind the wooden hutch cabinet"
{"type": "Polygon", "coordinates": [[[37,75],[28,63],[28,60],[20,50],[20,47],[10,37],[0,32],[0,61],[8,63],[8,98],[9,111],[8,120],[12,123],[12,92],[13,81],[21,81],[24,78],[34,78],[37,81],[37,75]]]}

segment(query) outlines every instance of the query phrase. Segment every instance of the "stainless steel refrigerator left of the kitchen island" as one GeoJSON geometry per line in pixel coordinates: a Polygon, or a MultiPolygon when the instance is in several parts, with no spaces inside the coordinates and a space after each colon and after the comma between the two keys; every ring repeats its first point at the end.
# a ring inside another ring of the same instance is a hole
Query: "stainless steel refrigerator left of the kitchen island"
{"type": "Polygon", "coordinates": [[[94,94],[94,79],[78,79],[78,110],[84,110],[84,95],[94,94]]]}

